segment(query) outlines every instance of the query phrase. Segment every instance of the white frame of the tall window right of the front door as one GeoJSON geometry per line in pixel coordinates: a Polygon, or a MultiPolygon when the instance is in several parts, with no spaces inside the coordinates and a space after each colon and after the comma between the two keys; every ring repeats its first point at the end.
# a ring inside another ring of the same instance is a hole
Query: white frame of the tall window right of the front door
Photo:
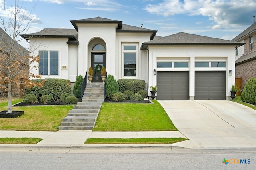
{"type": "Polygon", "coordinates": [[[122,43],[122,78],[138,78],[138,43],[122,43]],[[135,46],[135,50],[124,50],[124,46],[135,46]],[[124,75],[124,54],[125,53],[135,53],[136,55],[136,76],[125,76],[124,75]]]}

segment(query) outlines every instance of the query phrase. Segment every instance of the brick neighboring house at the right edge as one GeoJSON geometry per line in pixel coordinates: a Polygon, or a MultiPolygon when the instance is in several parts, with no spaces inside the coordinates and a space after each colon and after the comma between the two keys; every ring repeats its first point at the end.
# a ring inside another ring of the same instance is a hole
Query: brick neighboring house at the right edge
{"type": "Polygon", "coordinates": [[[250,78],[256,77],[256,23],[241,32],[233,41],[245,43],[236,47],[235,62],[236,84],[242,89],[250,78]]]}

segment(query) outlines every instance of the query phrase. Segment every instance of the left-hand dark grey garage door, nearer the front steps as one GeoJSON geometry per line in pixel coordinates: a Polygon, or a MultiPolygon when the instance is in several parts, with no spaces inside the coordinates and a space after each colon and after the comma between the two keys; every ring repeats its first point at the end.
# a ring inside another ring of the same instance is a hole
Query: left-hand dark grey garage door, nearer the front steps
{"type": "Polygon", "coordinates": [[[188,72],[157,72],[157,100],[188,100],[188,72]]]}

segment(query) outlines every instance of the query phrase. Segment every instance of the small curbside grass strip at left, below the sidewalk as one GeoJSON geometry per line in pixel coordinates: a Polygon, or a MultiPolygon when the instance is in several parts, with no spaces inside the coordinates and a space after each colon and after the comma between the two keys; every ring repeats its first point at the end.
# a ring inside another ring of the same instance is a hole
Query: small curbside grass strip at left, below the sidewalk
{"type": "Polygon", "coordinates": [[[0,144],[37,144],[41,138],[0,138],[0,144]]]}

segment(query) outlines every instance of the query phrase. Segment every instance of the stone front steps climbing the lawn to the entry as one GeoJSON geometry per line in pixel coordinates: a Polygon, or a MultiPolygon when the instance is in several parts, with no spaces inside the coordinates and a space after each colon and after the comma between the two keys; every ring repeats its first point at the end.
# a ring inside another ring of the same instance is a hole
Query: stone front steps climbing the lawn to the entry
{"type": "Polygon", "coordinates": [[[104,84],[87,84],[81,102],[62,119],[59,130],[92,130],[104,102],[104,84]]]}

